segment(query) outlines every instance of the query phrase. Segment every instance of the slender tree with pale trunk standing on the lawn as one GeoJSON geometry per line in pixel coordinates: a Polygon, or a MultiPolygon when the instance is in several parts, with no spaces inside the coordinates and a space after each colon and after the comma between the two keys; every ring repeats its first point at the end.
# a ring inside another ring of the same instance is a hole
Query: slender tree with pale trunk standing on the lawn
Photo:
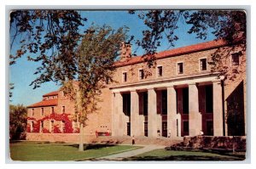
{"type": "Polygon", "coordinates": [[[127,28],[114,31],[110,26],[91,26],[84,34],[75,58],[77,64],[77,81],[64,82],[63,90],[75,102],[76,115],[80,124],[79,151],[84,150],[83,131],[88,115],[95,113],[101,101],[99,96],[106,83],[113,82],[114,61],[119,56],[121,42],[125,42],[127,28]],[[77,90],[77,92],[75,91],[77,90]]]}

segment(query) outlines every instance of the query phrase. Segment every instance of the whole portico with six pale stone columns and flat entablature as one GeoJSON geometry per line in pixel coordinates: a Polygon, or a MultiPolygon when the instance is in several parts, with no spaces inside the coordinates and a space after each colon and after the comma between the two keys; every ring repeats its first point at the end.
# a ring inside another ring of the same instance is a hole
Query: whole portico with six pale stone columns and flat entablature
{"type": "Polygon", "coordinates": [[[221,80],[216,74],[183,76],[110,87],[113,135],[171,138],[223,136],[221,80]]]}

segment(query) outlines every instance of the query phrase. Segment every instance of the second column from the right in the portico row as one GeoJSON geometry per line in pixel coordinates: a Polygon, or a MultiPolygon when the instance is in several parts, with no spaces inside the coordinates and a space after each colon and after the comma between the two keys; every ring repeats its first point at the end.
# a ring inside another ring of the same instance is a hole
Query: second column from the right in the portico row
{"type": "Polygon", "coordinates": [[[202,130],[201,113],[199,112],[198,88],[195,83],[189,84],[189,136],[197,136],[202,130]]]}

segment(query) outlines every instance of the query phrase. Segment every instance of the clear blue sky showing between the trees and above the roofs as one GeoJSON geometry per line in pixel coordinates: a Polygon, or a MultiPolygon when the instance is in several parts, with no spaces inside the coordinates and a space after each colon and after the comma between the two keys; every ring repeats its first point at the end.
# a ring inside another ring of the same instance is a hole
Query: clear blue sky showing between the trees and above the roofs
{"type": "MultiPolygon", "coordinates": [[[[84,28],[81,31],[84,31],[86,27],[90,26],[92,23],[94,25],[110,25],[114,29],[118,29],[120,26],[128,26],[130,28],[129,35],[134,35],[136,39],[140,39],[142,31],[147,27],[143,25],[143,20],[139,20],[136,14],[128,14],[125,10],[119,11],[81,11],[82,16],[88,19],[84,23],[84,28]]],[[[175,42],[175,48],[188,46],[191,44],[199,42],[207,42],[213,39],[213,36],[210,36],[206,40],[196,39],[195,35],[189,35],[186,31],[189,29],[189,25],[183,25],[182,22],[179,22],[179,29],[176,32],[179,40],[175,42]]],[[[15,42],[15,48],[19,48],[19,43],[15,42]]],[[[170,49],[168,48],[169,44],[163,40],[162,46],[158,51],[163,51],[170,49]]],[[[13,49],[15,49],[13,48],[13,49]]],[[[133,48],[135,46],[133,45],[133,48]]],[[[137,54],[143,54],[143,51],[139,48],[137,54]]],[[[44,93],[49,93],[55,90],[58,90],[60,86],[56,86],[53,82],[44,83],[41,87],[32,89],[29,84],[36,79],[37,76],[33,75],[39,63],[34,63],[27,61],[26,57],[17,60],[15,65],[11,65],[9,69],[9,82],[15,83],[15,89],[13,90],[13,98],[11,104],[24,104],[29,105],[36,103],[42,100],[42,95],[44,93]]]]}

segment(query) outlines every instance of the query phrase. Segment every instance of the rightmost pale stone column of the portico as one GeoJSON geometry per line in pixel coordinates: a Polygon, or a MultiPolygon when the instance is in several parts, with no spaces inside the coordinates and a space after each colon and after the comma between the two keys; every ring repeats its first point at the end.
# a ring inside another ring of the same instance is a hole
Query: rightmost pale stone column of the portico
{"type": "Polygon", "coordinates": [[[223,136],[223,103],[221,82],[212,82],[213,93],[213,135],[223,136]]]}

